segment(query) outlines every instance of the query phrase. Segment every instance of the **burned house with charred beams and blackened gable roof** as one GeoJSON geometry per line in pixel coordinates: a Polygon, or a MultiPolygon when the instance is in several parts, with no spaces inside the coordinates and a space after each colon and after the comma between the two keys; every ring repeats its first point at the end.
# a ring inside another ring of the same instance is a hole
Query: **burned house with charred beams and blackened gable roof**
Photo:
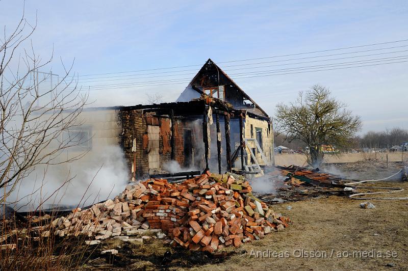
{"type": "MultiPolygon", "coordinates": [[[[85,147],[120,145],[133,178],[180,171],[261,173],[273,160],[270,117],[214,62],[175,102],[87,109],[85,147]]],[[[103,147],[104,148],[104,147],[103,147]]]]}

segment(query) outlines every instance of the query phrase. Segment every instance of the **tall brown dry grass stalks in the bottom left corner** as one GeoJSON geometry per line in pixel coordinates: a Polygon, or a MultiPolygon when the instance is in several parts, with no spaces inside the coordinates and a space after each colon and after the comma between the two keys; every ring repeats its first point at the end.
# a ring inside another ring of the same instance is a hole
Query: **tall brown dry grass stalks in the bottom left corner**
{"type": "Polygon", "coordinates": [[[0,236],[7,236],[2,243],[16,244],[16,248],[0,251],[1,270],[64,270],[78,269],[86,260],[83,249],[85,236],[54,235],[55,229],[45,220],[28,218],[28,222],[2,221],[0,236]],[[35,225],[35,226],[34,226],[35,225]],[[44,227],[38,230],[38,227],[44,227]],[[49,236],[43,235],[49,232],[49,236]]]}

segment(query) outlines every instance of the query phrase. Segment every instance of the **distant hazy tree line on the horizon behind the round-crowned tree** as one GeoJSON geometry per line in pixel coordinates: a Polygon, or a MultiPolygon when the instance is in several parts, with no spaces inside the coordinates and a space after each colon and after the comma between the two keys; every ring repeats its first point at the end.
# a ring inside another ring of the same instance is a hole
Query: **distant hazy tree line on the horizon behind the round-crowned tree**
{"type": "MultiPolygon", "coordinates": [[[[350,148],[378,148],[389,149],[392,146],[400,146],[403,141],[408,141],[408,130],[399,127],[386,129],[385,131],[368,131],[363,136],[353,138],[353,143],[350,148]]],[[[275,131],[274,138],[275,147],[283,145],[293,150],[300,150],[305,147],[305,144],[300,140],[289,142],[284,134],[279,134],[275,131]]]]}

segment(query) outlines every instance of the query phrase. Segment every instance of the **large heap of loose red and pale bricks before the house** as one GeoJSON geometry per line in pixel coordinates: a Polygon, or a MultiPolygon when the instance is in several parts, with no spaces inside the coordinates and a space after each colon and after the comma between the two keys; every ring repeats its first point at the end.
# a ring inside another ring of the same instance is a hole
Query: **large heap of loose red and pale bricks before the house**
{"type": "Polygon", "coordinates": [[[213,252],[288,226],[289,218],[268,209],[251,190],[243,179],[209,172],[182,183],[150,179],[127,185],[114,200],[76,209],[52,227],[56,235],[95,239],[161,229],[174,246],[213,252]]]}

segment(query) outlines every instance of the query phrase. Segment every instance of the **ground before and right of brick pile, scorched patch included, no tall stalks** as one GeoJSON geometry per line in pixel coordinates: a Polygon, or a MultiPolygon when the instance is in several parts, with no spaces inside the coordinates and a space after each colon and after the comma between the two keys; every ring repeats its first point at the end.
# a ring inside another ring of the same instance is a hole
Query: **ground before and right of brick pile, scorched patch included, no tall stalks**
{"type": "MultiPolygon", "coordinates": [[[[408,197],[407,182],[365,184],[369,185],[403,187],[405,191],[386,196],[408,197]]],[[[83,267],[200,271],[408,269],[408,201],[369,201],[375,208],[362,209],[360,203],[365,201],[338,196],[274,204],[275,211],[290,216],[289,228],[215,256],[173,249],[160,240],[142,246],[111,240],[101,243],[83,267]],[[99,256],[99,250],[112,248],[119,254],[111,258],[99,256]]]]}

